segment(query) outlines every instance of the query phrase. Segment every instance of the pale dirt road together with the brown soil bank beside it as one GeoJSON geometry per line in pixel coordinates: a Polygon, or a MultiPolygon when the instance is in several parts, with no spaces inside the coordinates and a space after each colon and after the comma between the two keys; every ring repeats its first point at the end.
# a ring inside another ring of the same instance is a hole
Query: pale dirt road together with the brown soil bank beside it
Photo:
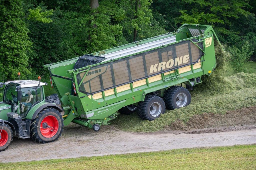
{"type": "Polygon", "coordinates": [[[0,162],[254,144],[255,108],[228,111],[223,115],[196,115],[186,124],[177,120],[165,131],[148,133],[125,132],[112,125],[102,126],[99,132],[94,132],[72,123],[64,127],[62,136],[53,143],[14,139],[9,148],[1,152],[0,162]]]}

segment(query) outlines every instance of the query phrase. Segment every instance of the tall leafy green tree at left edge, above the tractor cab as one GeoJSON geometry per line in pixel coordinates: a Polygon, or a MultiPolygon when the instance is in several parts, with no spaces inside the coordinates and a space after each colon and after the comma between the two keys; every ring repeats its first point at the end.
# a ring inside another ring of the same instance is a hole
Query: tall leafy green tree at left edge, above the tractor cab
{"type": "Polygon", "coordinates": [[[31,42],[27,35],[21,0],[1,0],[0,3],[0,72],[7,79],[30,74],[28,52],[31,42]]]}

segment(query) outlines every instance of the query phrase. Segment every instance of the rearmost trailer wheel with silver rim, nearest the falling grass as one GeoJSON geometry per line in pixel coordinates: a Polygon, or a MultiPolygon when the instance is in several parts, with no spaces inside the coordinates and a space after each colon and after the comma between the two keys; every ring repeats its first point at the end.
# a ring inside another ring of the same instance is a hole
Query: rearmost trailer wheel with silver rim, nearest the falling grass
{"type": "Polygon", "coordinates": [[[166,104],[166,108],[168,110],[173,110],[176,108],[185,107],[191,102],[191,94],[188,89],[180,86],[173,86],[167,89],[164,93],[164,102],[166,104]],[[179,96],[183,96],[183,100],[179,98],[179,96]],[[176,101],[181,100],[184,103],[177,105],[176,101]]]}

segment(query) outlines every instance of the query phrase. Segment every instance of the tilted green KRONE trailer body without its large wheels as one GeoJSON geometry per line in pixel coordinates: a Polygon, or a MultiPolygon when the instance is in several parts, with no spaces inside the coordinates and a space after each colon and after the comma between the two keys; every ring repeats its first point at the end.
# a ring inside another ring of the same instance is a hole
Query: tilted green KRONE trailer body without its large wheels
{"type": "Polygon", "coordinates": [[[147,94],[163,97],[176,84],[201,83],[216,67],[214,40],[219,42],[211,26],[184,24],[176,32],[45,65],[64,125],[105,125],[147,94]]]}

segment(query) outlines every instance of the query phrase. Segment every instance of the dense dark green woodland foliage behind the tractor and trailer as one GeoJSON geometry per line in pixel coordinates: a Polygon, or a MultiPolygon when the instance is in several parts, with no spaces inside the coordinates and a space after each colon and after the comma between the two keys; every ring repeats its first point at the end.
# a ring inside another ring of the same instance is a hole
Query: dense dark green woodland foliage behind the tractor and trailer
{"type": "Polygon", "coordinates": [[[23,78],[42,76],[43,64],[175,31],[182,23],[212,25],[221,43],[232,47],[232,61],[246,42],[247,56],[256,59],[254,1],[0,2],[0,81],[16,79],[18,71],[23,78]]]}

